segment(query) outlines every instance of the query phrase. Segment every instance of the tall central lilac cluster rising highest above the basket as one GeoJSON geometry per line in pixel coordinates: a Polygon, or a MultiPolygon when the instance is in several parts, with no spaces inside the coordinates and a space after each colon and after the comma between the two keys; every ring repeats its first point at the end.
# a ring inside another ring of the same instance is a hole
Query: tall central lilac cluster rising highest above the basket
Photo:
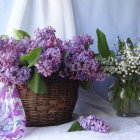
{"type": "Polygon", "coordinates": [[[59,70],[62,62],[62,40],[56,38],[55,30],[52,27],[46,27],[35,31],[35,45],[43,48],[39,61],[35,64],[38,71],[45,77],[59,70]]]}

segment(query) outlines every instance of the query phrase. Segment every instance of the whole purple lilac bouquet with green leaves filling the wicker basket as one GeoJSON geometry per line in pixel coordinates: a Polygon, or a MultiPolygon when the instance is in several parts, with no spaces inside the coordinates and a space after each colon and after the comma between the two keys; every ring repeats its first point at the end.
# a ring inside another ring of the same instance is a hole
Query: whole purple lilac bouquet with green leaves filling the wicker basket
{"type": "Polygon", "coordinates": [[[90,79],[104,80],[90,49],[91,36],[62,41],[52,27],[35,30],[34,39],[22,30],[13,29],[13,34],[14,38],[0,37],[0,81],[5,85],[26,85],[35,93],[46,93],[44,79],[53,75],[81,81],[85,88],[90,79]]]}

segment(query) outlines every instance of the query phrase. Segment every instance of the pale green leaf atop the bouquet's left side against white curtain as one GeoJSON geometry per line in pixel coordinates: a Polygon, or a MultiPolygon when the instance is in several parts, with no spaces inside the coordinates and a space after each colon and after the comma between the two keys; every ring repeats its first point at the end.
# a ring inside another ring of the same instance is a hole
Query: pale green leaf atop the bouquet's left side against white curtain
{"type": "Polygon", "coordinates": [[[21,40],[25,36],[28,38],[31,38],[30,35],[26,33],[25,31],[16,30],[15,28],[13,28],[12,33],[13,33],[13,37],[17,40],[21,40]]]}

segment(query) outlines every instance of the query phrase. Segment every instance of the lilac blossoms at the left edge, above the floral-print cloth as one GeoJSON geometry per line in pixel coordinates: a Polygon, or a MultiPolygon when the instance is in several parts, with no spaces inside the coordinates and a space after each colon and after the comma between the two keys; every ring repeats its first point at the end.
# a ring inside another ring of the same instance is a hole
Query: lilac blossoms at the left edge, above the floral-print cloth
{"type": "Polygon", "coordinates": [[[26,54],[24,39],[0,38],[0,81],[21,85],[30,78],[30,68],[19,67],[20,56],[26,54]]]}

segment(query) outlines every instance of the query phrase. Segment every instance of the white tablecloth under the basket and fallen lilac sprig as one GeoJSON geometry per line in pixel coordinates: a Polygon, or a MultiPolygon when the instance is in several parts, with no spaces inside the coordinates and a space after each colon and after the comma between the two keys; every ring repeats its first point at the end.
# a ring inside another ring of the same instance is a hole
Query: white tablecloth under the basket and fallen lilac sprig
{"type": "Polygon", "coordinates": [[[116,116],[110,103],[91,92],[80,92],[75,112],[77,113],[76,117],[80,114],[96,114],[108,122],[109,133],[67,132],[73,123],[69,122],[59,126],[27,128],[22,140],[140,140],[140,117],[122,118],[116,116]]]}

